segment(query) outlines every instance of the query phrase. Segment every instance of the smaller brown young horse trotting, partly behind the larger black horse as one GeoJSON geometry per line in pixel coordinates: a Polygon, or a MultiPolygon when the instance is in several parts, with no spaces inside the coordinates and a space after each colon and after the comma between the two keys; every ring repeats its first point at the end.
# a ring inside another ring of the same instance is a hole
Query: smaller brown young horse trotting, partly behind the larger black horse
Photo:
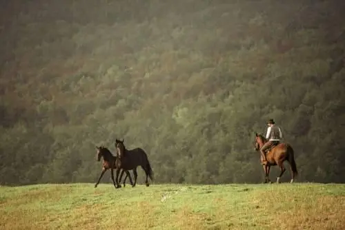
{"type": "MultiPolygon", "coordinates": [[[[112,153],[109,151],[109,149],[107,149],[106,147],[100,146],[97,147],[97,161],[101,160],[101,157],[103,157],[103,167],[102,167],[102,171],[101,171],[101,176],[99,176],[99,179],[97,181],[97,183],[95,184],[95,187],[97,187],[97,185],[99,184],[99,181],[101,181],[101,178],[103,176],[103,174],[110,169],[111,171],[111,179],[112,182],[114,183],[115,188],[117,187],[117,184],[115,184],[115,180],[114,180],[114,169],[116,168],[115,166],[115,156],[112,155],[112,153]]],[[[124,170],[122,170],[121,174],[124,174],[124,170]]],[[[126,177],[124,178],[124,186],[125,186],[125,182],[126,182],[126,178],[129,177],[130,179],[130,185],[133,185],[132,182],[132,178],[130,177],[130,173],[126,170],[126,177]]],[[[117,181],[116,181],[117,182],[117,181]]],[[[121,180],[120,180],[121,182],[121,180]]]]}

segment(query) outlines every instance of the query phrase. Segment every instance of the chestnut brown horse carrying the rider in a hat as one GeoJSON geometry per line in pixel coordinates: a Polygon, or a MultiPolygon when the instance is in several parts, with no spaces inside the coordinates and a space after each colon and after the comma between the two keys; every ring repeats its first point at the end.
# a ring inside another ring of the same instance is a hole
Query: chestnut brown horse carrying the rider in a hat
{"type": "MultiPolygon", "coordinates": [[[[259,151],[262,146],[267,142],[267,139],[264,138],[261,134],[255,134],[255,150],[259,151]]],[[[284,161],[287,160],[290,163],[290,169],[292,172],[292,178],[290,182],[292,183],[297,176],[297,166],[295,163],[295,158],[293,156],[293,147],[287,143],[279,143],[278,145],[271,147],[268,149],[266,153],[267,158],[267,165],[263,165],[265,171],[265,183],[270,182],[269,174],[270,174],[270,167],[274,165],[278,165],[280,167],[280,174],[277,177],[277,183],[280,182],[280,178],[284,174],[286,170],[284,167],[284,161]]],[[[263,156],[260,154],[260,160],[263,162],[263,156]]]]}

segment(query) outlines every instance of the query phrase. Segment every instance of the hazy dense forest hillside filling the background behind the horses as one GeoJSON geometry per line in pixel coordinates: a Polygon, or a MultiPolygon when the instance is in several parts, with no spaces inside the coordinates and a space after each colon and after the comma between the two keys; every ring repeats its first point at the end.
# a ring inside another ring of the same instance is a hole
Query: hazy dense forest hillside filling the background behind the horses
{"type": "Polygon", "coordinates": [[[261,182],[268,118],[297,181],[345,182],[345,1],[0,4],[1,185],[95,182],[115,138],[156,183],[261,182]]]}

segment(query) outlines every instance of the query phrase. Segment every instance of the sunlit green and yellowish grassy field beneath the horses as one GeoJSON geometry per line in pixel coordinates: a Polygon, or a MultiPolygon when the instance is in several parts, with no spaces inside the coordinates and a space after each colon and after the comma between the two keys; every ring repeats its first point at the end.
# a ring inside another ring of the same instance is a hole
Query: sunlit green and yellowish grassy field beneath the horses
{"type": "Polygon", "coordinates": [[[345,229],[345,185],[0,187],[0,229],[345,229]]]}

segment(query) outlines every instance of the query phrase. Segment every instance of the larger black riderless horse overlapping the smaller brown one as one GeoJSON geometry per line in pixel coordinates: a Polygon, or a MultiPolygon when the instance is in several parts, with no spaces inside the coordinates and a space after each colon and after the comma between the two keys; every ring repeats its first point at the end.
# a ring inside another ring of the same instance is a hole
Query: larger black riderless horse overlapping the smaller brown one
{"type": "MultiPolygon", "coordinates": [[[[135,187],[137,184],[137,167],[140,165],[141,168],[145,171],[146,174],[146,186],[149,186],[148,184],[148,177],[153,181],[153,171],[151,168],[150,163],[148,162],[148,156],[144,149],[141,148],[135,148],[135,149],[126,149],[124,145],[124,139],[122,140],[115,140],[115,146],[117,149],[117,160],[116,160],[116,182],[117,186],[121,187],[118,183],[119,179],[119,171],[120,169],[124,170],[133,170],[134,174],[134,184],[132,187],[135,187]]],[[[121,177],[124,174],[124,171],[121,172],[120,176],[120,181],[121,177]]]]}

